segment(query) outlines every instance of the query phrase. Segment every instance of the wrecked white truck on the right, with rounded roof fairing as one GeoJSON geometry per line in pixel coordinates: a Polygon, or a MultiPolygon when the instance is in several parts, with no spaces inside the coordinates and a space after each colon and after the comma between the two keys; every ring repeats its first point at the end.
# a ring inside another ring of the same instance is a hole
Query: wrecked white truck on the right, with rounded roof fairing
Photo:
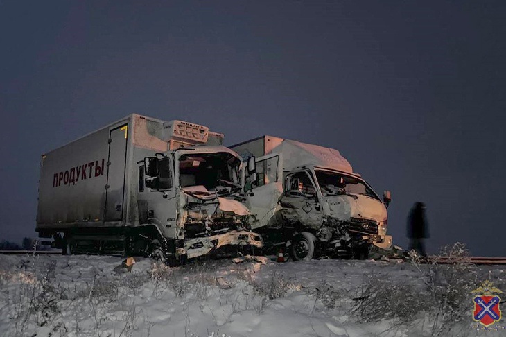
{"type": "Polygon", "coordinates": [[[390,191],[380,198],[338,150],[272,136],[230,148],[244,162],[250,159],[243,173],[245,205],[265,248],[287,245],[295,259],[363,259],[372,245],[391,247],[390,191]]]}

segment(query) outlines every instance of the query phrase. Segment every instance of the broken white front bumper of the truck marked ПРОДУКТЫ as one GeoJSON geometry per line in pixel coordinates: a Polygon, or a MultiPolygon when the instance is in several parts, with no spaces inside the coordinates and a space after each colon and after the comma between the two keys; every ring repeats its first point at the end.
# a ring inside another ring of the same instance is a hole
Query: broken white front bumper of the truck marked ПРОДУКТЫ
{"type": "Polygon", "coordinates": [[[189,239],[184,242],[184,250],[186,251],[187,257],[191,259],[234,245],[250,245],[256,248],[262,248],[263,239],[256,233],[234,230],[224,234],[189,239]]]}

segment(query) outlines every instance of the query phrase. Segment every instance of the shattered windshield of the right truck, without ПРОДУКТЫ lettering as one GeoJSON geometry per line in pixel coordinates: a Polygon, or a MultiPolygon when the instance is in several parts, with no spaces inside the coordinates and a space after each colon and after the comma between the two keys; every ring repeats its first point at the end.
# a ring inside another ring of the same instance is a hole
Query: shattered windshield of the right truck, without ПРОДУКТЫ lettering
{"type": "Polygon", "coordinates": [[[374,193],[374,191],[372,191],[372,189],[359,178],[329,171],[316,170],[315,173],[324,196],[359,194],[378,199],[376,193],[374,193]]]}

